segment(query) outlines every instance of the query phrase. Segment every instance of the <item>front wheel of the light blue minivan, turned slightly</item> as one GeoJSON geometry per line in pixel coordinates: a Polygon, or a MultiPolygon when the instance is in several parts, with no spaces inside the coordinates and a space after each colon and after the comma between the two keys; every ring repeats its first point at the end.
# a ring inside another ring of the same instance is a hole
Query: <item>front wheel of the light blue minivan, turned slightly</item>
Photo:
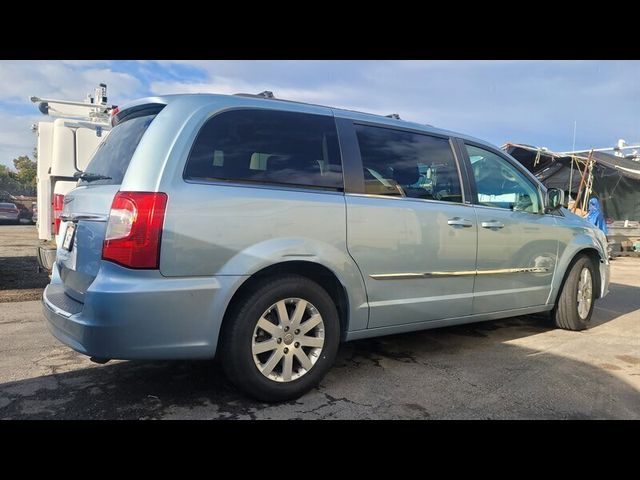
{"type": "Polygon", "coordinates": [[[553,319],[559,328],[584,330],[589,326],[595,301],[595,268],[589,257],[573,264],[558,296],[553,319]]]}

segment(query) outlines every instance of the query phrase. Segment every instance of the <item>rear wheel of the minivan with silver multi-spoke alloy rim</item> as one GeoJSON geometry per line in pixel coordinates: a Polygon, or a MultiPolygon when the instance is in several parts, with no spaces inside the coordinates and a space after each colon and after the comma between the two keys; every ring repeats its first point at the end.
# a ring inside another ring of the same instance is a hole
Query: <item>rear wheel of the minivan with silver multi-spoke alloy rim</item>
{"type": "Polygon", "coordinates": [[[236,306],[223,326],[222,368],[248,395],[265,402],[298,398],[333,365],[340,321],[316,282],[299,275],[272,278],[236,306]]]}

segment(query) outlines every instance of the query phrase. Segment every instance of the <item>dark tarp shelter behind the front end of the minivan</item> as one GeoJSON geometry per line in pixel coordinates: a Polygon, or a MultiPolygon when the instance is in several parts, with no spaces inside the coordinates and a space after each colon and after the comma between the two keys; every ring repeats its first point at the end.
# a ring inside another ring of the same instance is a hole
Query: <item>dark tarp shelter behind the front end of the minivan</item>
{"type": "MultiPolygon", "coordinates": [[[[544,151],[538,155],[536,151],[511,144],[507,144],[505,151],[545,186],[569,191],[571,157],[544,151]]],[[[583,152],[580,156],[588,157],[589,152],[583,152]]],[[[640,220],[640,162],[603,152],[593,152],[592,158],[595,165],[591,195],[600,200],[605,217],[614,220],[640,220]]],[[[573,198],[576,197],[579,186],[580,172],[574,167],[571,180],[573,198]]]]}

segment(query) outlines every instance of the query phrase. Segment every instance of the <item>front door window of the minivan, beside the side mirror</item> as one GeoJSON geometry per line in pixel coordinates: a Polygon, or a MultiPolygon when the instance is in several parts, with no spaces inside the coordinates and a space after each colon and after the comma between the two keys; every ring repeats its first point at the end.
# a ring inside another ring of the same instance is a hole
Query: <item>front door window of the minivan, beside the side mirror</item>
{"type": "Polygon", "coordinates": [[[516,167],[489,150],[473,145],[465,146],[476,179],[480,205],[529,213],[540,212],[538,189],[516,167]]]}

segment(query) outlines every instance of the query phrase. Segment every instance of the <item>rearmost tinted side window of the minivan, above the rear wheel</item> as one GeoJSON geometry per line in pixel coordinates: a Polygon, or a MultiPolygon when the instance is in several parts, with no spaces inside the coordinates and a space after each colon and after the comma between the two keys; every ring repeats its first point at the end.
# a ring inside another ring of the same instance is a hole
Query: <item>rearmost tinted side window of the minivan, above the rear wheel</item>
{"type": "Polygon", "coordinates": [[[220,113],[198,133],[184,176],[342,189],[335,122],[266,109],[220,113]]]}

